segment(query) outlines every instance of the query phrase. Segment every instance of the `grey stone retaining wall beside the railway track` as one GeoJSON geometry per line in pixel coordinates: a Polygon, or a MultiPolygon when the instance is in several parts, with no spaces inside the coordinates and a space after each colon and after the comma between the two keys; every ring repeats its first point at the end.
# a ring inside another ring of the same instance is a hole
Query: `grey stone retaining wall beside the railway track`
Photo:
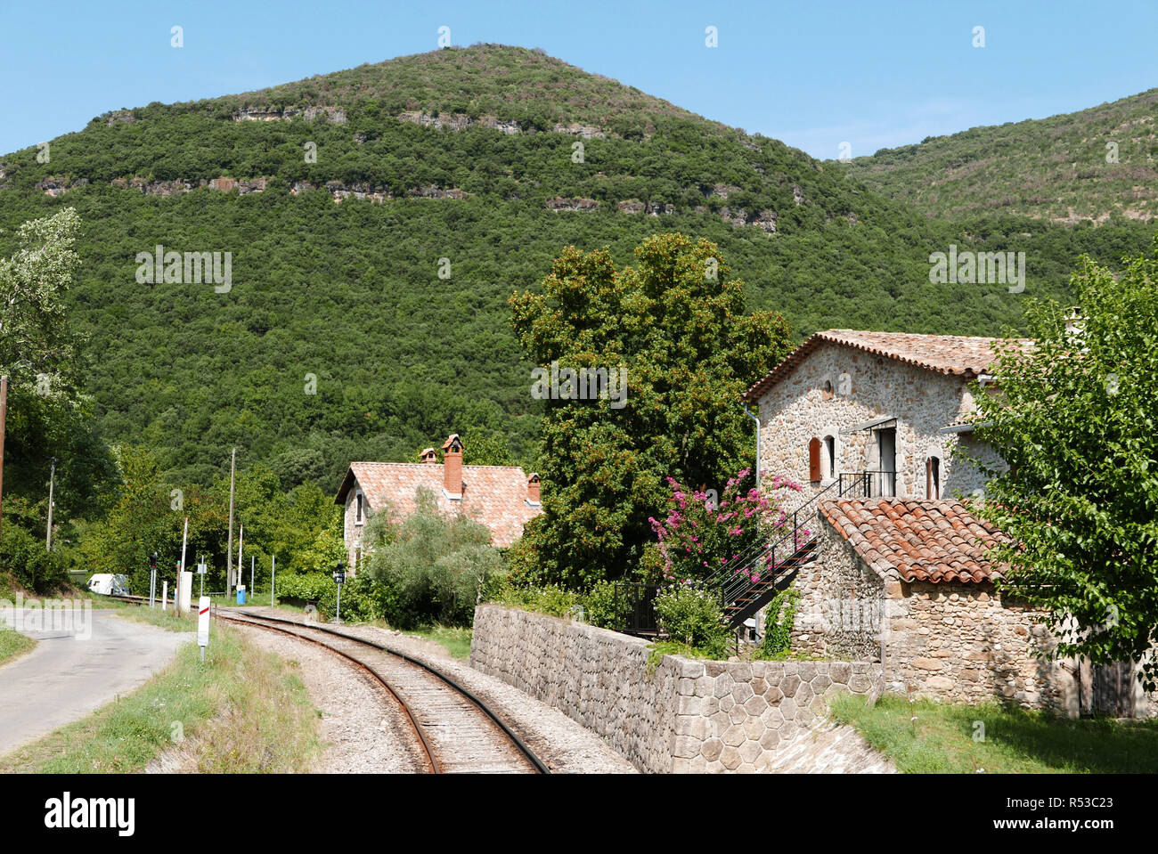
{"type": "Polygon", "coordinates": [[[644,772],[755,772],[819,722],[824,698],[875,699],[867,662],[703,662],[638,638],[501,605],[475,610],[470,663],[602,736],[644,772]]]}

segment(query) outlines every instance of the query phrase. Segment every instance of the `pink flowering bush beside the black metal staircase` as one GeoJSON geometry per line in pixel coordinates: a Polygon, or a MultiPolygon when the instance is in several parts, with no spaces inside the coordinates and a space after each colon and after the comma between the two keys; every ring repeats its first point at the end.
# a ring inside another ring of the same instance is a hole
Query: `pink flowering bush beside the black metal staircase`
{"type": "Polygon", "coordinates": [[[743,573],[758,581],[772,568],[771,555],[763,553],[761,544],[790,531],[780,496],[785,491],[799,492],[800,486],[772,476],[756,489],[749,486],[749,474],[743,469],[728,480],[718,505],[711,493],[667,479],[672,486],[667,516],[647,520],[658,539],[665,582],[694,584],[720,573],[743,573]]]}

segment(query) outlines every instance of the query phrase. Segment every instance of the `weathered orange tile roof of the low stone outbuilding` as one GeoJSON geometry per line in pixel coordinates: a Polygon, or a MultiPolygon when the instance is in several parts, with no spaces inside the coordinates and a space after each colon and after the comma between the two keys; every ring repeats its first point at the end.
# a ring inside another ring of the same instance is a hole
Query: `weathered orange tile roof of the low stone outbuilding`
{"type": "Polygon", "coordinates": [[[959,501],[866,499],[824,501],[820,511],[877,572],[904,581],[980,583],[1001,576],[985,552],[1007,543],[959,501]]]}

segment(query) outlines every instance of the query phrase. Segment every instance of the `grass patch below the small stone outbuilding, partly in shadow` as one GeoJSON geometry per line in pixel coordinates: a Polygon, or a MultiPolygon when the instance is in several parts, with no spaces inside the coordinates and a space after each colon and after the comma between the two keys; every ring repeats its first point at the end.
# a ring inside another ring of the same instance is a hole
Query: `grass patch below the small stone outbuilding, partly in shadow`
{"type": "Polygon", "coordinates": [[[833,715],[906,773],[1156,773],[1158,721],[1062,720],[997,705],[834,697],[833,715]],[[916,721],[910,717],[916,716],[916,721]]]}

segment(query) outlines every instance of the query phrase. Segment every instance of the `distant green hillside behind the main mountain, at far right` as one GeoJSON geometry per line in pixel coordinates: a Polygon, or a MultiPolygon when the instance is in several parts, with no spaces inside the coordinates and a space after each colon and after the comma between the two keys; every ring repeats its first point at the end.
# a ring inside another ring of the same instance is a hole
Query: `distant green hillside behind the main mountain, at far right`
{"type": "Polygon", "coordinates": [[[931,216],[1150,221],[1158,216],[1158,89],[1047,119],[930,137],[844,165],[931,216]]]}

